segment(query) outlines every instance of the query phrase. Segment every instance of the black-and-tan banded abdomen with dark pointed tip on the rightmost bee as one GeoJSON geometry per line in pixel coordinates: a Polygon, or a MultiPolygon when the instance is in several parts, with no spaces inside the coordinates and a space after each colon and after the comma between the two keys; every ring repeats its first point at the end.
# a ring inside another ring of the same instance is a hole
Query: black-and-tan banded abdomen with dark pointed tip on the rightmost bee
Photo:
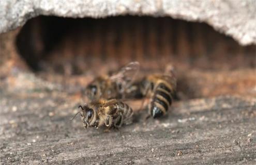
{"type": "Polygon", "coordinates": [[[153,118],[163,116],[172,104],[173,91],[168,86],[165,83],[160,83],[154,90],[154,95],[149,105],[149,113],[153,118]]]}

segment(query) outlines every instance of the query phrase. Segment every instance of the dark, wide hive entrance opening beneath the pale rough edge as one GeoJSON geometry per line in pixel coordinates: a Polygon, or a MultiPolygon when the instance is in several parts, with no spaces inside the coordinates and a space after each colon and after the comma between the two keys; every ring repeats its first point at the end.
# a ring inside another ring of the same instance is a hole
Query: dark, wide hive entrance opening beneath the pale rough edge
{"type": "Polygon", "coordinates": [[[17,47],[34,71],[46,74],[106,72],[134,60],[141,63],[144,71],[151,72],[162,70],[171,62],[179,71],[179,88],[189,91],[188,97],[204,96],[194,93],[199,88],[196,77],[205,76],[207,82],[216,77],[205,75],[206,71],[221,74],[255,68],[256,50],[254,45],[238,45],[203,23],[132,16],[37,17],[23,26],[17,47]],[[192,71],[196,72],[194,84],[193,80],[189,84],[192,71]]]}

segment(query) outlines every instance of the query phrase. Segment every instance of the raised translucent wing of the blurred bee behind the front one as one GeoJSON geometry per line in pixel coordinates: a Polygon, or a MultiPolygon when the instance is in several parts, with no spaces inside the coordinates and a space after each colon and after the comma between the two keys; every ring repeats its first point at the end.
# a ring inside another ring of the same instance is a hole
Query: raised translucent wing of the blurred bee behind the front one
{"type": "Polygon", "coordinates": [[[133,61],[128,63],[125,67],[123,67],[119,72],[112,75],[110,79],[119,84],[126,84],[127,86],[131,83],[134,77],[138,74],[140,70],[140,63],[137,61],[133,61]]]}

